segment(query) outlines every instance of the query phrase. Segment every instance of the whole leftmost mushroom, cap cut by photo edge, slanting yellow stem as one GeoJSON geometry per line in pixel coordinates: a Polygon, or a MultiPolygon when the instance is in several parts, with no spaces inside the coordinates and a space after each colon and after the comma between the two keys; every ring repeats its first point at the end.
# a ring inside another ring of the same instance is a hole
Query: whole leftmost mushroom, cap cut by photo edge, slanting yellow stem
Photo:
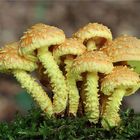
{"type": "Polygon", "coordinates": [[[23,88],[34,98],[48,116],[53,114],[52,102],[42,87],[26,71],[37,68],[36,63],[18,55],[18,42],[5,45],[0,50],[0,71],[8,70],[14,74],[23,88]]]}

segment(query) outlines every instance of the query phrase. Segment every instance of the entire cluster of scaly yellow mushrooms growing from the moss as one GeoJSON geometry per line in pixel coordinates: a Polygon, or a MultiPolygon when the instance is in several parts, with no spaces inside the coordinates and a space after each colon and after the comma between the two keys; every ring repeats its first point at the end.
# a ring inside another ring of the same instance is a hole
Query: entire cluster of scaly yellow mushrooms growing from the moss
{"type": "Polygon", "coordinates": [[[48,117],[86,116],[109,129],[121,122],[123,97],[140,87],[127,63],[139,60],[139,39],[112,39],[102,24],[89,23],[66,38],[61,29],[38,23],[0,49],[0,72],[12,73],[48,117]]]}

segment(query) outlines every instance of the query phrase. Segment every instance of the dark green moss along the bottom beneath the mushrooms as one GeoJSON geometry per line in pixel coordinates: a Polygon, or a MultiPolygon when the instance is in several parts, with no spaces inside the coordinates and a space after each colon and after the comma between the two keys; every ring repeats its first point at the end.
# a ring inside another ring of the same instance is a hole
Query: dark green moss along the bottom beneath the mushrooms
{"type": "Polygon", "coordinates": [[[92,125],[86,118],[45,119],[33,109],[25,117],[17,115],[11,123],[0,124],[2,140],[137,140],[140,138],[140,114],[128,109],[121,113],[122,124],[110,131],[100,123],[92,125]]]}

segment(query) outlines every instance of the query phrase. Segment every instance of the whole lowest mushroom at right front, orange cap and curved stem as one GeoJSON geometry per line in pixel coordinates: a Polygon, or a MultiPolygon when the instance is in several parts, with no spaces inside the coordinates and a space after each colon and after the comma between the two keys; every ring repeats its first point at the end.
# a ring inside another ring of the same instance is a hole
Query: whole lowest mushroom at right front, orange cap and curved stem
{"type": "Polygon", "coordinates": [[[119,125],[119,106],[124,96],[134,94],[139,88],[139,75],[126,66],[116,66],[113,71],[103,78],[101,91],[109,95],[109,99],[102,116],[102,126],[105,129],[119,125]],[[109,124],[109,125],[108,125],[109,124]]]}

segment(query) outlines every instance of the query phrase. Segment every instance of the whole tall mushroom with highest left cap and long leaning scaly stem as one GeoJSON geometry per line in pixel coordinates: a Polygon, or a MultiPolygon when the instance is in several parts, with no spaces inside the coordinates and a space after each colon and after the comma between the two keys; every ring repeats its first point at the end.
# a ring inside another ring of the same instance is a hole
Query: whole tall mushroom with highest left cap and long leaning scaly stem
{"type": "Polygon", "coordinates": [[[54,93],[54,113],[62,113],[67,105],[68,92],[65,77],[54,60],[50,47],[59,45],[65,41],[65,34],[57,27],[36,24],[24,33],[20,39],[20,52],[26,57],[37,50],[37,57],[46,69],[54,93]]]}

